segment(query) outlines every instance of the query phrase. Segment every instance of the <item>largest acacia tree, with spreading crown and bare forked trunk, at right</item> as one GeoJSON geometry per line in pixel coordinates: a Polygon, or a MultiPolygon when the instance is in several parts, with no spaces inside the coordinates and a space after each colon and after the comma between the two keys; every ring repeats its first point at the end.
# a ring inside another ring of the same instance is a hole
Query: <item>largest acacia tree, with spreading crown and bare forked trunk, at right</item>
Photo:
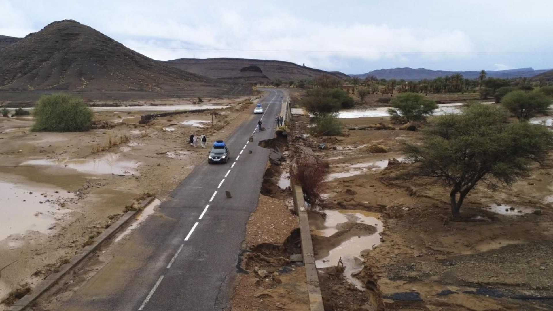
{"type": "Polygon", "coordinates": [[[405,144],[406,161],[418,164],[412,173],[450,186],[454,217],[478,183],[492,190],[512,185],[553,149],[553,133],[546,127],[506,121],[504,108],[478,103],[461,114],[436,117],[422,146],[405,144]]]}

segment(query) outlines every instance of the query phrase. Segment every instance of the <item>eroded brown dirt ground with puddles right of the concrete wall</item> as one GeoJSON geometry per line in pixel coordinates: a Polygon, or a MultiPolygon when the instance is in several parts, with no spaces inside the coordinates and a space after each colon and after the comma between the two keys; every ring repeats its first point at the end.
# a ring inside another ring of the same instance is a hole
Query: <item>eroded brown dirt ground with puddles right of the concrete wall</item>
{"type": "Polygon", "coordinates": [[[409,169],[401,142],[420,141],[419,132],[353,129],[386,117],[341,121],[352,128],[341,137],[306,137],[309,119],[296,117],[289,137],[330,164],[310,215],[328,310],[553,308],[551,167],[511,189],[478,187],[463,204],[465,221],[451,221],[448,189],[401,177],[409,169]],[[346,271],[336,269],[340,255],[346,271]]]}

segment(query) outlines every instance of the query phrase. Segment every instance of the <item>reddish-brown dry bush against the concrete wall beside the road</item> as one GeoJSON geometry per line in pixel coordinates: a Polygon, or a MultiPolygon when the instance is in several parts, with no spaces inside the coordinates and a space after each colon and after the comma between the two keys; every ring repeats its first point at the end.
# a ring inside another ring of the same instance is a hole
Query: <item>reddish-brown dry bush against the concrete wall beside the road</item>
{"type": "Polygon", "coordinates": [[[311,204],[321,197],[322,183],[328,174],[328,162],[319,160],[311,155],[301,155],[295,160],[290,169],[290,175],[307,196],[311,204]]]}

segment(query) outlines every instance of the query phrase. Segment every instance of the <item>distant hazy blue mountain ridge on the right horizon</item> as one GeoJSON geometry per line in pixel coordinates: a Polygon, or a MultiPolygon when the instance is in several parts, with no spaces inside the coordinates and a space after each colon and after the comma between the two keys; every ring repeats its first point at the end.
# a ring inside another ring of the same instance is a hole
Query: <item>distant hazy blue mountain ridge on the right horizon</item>
{"type": "MultiPolygon", "coordinates": [[[[534,70],[533,68],[517,68],[509,70],[486,70],[488,77],[497,77],[503,79],[509,79],[514,77],[533,77],[543,72],[549,71],[550,69],[545,70],[534,70]]],[[[367,72],[366,74],[360,75],[349,75],[356,76],[361,79],[364,79],[367,76],[375,76],[378,79],[397,79],[397,80],[423,80],[423,79],[436,79],[437,77],[451,76],[453,74],[462,74],[466,79],[477,79],[480,75],[480,71],[447,71],[447,70],[430,70],[424,68],[390,68],[390,69],[379,69],[367,72]]]]}

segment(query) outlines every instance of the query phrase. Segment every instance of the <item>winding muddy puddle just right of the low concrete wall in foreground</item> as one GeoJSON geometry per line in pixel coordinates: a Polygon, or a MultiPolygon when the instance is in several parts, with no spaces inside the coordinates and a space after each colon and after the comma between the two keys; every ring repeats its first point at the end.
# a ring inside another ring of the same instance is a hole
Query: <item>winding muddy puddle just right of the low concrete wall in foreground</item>
{"type": "Polygon", "coordinates": [[[350,283],[354,284],[358,289],[363,290],[364,285],[357,278],[352,277],[351,274],[363,269],[361,252],[372,250],[380,244],[380,232],[384,230],[382,221],[378,220],[378,214],[360,210],[325,210],[325,214],[325,229],[315,231],[314,234],[316,235],[331,236],[340,231],[340,224],[348,221],[376,227],[377,231],[374,234],[360,237],[353,236],[351,239],[330,250],[325,258],[315,261],[317,268],[326,268],[336,266],[341,258],[344,264],[343,275],[350,283]]]}

